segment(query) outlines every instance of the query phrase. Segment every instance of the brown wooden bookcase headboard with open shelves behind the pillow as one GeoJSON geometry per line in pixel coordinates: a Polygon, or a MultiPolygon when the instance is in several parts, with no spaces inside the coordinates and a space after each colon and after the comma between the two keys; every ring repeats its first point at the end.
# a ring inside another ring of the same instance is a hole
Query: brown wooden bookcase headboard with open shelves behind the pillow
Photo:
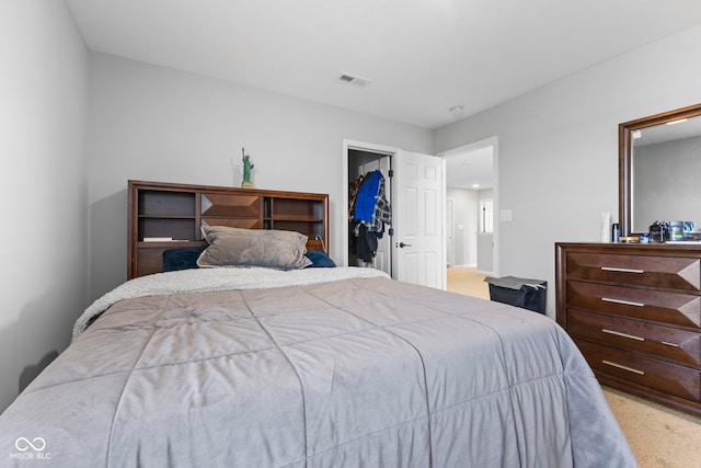
{"type": "Polygon", "coordinates": [[[163,271],[163,251],[205,248],[203,225],[306,235],[329,252],[329,195],[129,181],[127,279],[163,271]]]}

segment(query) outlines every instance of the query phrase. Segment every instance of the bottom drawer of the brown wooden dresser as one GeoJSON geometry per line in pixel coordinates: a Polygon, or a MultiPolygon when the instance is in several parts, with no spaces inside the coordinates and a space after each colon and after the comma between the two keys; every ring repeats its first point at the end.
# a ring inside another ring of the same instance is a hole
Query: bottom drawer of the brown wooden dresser
{"type": "Polygon", "coordinates": [[[589,366],[602,376],[701,402],[701,372],[613,347],[574,340],[589,366]]]}

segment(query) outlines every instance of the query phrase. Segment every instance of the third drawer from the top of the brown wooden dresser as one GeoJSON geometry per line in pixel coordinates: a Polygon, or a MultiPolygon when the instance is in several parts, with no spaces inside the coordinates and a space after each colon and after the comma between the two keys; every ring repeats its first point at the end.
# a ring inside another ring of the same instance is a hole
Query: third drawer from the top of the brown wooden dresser
{"type": "Polygon", "coordinates": [[[701,369],[701,334],[692,331],[570,309],[567,333],[701,369]]]}

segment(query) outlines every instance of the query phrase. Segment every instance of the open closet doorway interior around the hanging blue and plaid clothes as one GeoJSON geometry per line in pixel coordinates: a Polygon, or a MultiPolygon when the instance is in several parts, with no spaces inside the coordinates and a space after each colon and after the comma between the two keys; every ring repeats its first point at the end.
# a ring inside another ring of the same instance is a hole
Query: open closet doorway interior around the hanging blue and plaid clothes
{"type": "MultiPolygon", "coordinates": [[[[374,150],[367,148],[353,148],[348,147],[348,168],[347,168],[347,186],[350,192],[353,185],[358,185],[359,182],[367,176],[367,174],[375,171],[379,171],[382,174],[384,183],[384,192],[387,199],[390,199],[392,193],[392,157],[391,152],[374,150]]],[[[375,255],[369,259],[366,255],[364,260],[359,253],[358,240],[359,236],[358,226],[352,219],[348,218],[348,242],[347,254],[348,265],[370,267],[383,271],[392,276],[392,229],[391,225],[386,225],[383,231],[377,239],[377,251],[375,255]],[[367,261],[370,260],[370,261],[367,261]]]]}

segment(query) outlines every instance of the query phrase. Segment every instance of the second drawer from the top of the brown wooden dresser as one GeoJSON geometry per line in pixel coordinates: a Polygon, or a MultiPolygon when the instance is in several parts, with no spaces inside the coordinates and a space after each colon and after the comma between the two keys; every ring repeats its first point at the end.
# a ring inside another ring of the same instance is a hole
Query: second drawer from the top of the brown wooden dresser
{"type": "Polygon", "coordinates": [[[701,296],[608,284],[567,281],[567,306],[701,328],[701,296]]]}

